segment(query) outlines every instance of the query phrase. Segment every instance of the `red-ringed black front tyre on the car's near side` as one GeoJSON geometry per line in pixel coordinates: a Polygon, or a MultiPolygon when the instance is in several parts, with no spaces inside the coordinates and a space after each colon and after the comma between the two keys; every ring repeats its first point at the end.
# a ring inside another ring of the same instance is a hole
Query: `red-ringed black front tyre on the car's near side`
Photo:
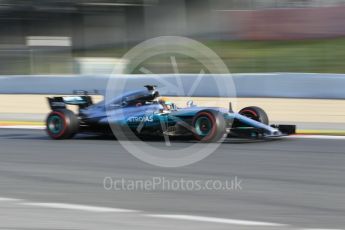
{"type": "Polygon", "coordinates": [[[218,111],[198,112],[193,118],[192,125],[194,137],[200,142],[217,142],[226,133],[224,116],[218,111]]]}

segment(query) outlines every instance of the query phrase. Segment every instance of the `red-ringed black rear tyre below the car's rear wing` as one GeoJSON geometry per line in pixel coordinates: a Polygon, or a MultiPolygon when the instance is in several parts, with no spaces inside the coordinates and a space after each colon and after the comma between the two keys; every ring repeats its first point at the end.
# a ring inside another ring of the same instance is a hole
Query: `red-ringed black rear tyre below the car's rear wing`
{"type": "Polygon", "coordinates": [[[47,117],[46,130],[52,139],[69,139],[78,132],[79,120],[71,110],[54,110],[47,117]]]}

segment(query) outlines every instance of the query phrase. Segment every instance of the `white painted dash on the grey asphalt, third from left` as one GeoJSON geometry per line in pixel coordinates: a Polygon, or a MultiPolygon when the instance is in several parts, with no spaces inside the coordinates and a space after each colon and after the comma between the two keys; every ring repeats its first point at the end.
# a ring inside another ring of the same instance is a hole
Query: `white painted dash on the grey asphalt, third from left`
{"type": "Polygon", "coordinates": [[[145,214],[144,216],[154,217],[154,218],[175,219],[175,220],[189,220],[189,221],[200,221],[200,222],[219,223],[219,224],[243,225],[243,226],[267,226],[267,227],[286,226],[285,224],[278,224],[278,223],[225,219],[225,218],[206,217],[206,216],[161,215],[161,214],[145,214]]]}

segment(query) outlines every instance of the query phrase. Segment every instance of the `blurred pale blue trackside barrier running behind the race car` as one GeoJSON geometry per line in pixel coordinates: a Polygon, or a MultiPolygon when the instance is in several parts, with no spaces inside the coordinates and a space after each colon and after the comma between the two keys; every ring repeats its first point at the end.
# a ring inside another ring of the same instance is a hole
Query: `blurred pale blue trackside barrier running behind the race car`
{"type": "MultiPolygon", "coordinates": [[[[114,90],[123,92],[144,85],[157,85],[163,88],[168,82],[178,85],[174,74],[159,75],[116,75],[118,81],[126,81],[125,88],[114,90]],[[164,80],[164,81],[162,81],[164,80]],[[164,85],[165,84],[165,85],[164,85]]],[[[196,74],[180,74],[183,92],[188,92],[197,80],[196,74]]],[[[104,94],[109,75],[72,76],[0,76],[0,94],[67,94],[75,90],[86,90],[90,94],[104,94]]],[[[194,92],[194,97],[229,97],[217,87],[221,84],[234,84],[239,98],[304,98],[304,99],[345,99],[345,74],[305,74],[305,73],[257,73],[208,75],[205,74],[194,92]]],[[[161,94],[167,96],[186,96],[177,94],[175,89],[165,87],[161,94]]],[[[233,95],[233,92],[230,94],[233,95]]]]}

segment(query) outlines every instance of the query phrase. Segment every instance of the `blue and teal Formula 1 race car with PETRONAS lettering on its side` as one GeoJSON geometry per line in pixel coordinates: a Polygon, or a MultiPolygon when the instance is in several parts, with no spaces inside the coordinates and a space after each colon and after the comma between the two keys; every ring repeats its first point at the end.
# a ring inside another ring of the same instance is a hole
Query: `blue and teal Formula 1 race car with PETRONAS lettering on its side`
{"type": "Polygon", "coordinates": [[[72,138],[77,133],[105,133],[118,136],[186,137],[200,142],[217,142],[225,137],[268,138],[295,133],[294,125],[269,125],[259,107],[246,107],[235,113],[228,109],[198,107],[192,101],[186,108],[160,99],[155,86],[125,93],[93,104],[90,96],[48,98],[52,112],[46,128],[53,139],[72,138]],[[66,105],[79,106],[79,113],[66,105]],[[129,135],[130,136],[130,135],[129,135]]]}

